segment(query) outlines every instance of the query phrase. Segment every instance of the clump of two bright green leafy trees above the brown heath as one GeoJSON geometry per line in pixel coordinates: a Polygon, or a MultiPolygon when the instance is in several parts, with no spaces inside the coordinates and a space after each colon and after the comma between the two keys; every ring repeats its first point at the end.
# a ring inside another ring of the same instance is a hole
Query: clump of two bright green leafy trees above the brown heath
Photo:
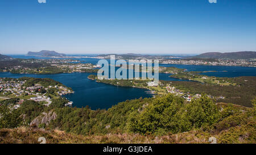
{"type": "Polygon", "coordinates": [[[220,120],[220,112],[207,95],[184,104],[184,100],[168,94],[156,98],[142,112],[134,111],[128,129],[135,133],[164,135],[207,127],[220,120]]]}

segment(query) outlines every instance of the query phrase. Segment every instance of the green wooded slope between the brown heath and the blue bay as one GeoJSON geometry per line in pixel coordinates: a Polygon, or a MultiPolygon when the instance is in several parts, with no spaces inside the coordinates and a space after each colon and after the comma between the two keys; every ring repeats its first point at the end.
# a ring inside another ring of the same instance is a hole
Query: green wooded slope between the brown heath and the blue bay
{"type": "MultiPolygon", "coordinates": [[[[12,102],[15,104],[16,100],[12,102]]],[[[205,94],[191,103],[171,94],[126,100],[108,110],[90,110],[88,106],[64,107],[65,102],[65,99],[59,99],[47,107],[25,100],[17,110],[10,110],[10,104],[1,101],[0,128],[23,126],[46,131],[57,128],[84,136],[137,133],[146,137],[195,131],[201,136],[215,135],[221,143],[255,143],[256,140],[256,99],[251,100],[253,108],[216,104],[205,94]],[[56,118],[49,124],[31,124],[43,112],[54,112],[56,118]]]]}

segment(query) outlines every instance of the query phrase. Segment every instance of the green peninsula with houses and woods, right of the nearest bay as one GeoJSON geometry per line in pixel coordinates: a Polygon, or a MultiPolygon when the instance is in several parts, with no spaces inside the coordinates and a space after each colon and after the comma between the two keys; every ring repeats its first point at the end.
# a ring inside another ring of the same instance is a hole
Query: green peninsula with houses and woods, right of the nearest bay
{"type": "MultiPolygon", "coordinates": [[[[234,103],[241,106],[251,107],[251,99],[256,97],[256,77],[209,77],[202,72],[188,72],[185,69],[173,67],[159,68],[161,73],[172,73],[170,77],[186,79],[187,81],[163,81],[158,83],[154,79],[99,79],[96,75],[88,78],[101,83],[115,86],[138,87],[148,89],[156,95],[167,95],[169,93],[191,102],[192,99],[201,97],[205,93],[209,98],[218,102],[234,103]]],[[[211,71],[214,72],[214,71],[211,71]]]]}

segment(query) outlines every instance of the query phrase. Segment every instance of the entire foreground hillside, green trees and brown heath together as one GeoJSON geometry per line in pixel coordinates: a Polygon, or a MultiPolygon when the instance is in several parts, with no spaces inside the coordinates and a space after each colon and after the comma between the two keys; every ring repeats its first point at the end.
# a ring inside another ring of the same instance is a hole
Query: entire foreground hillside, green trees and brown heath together
{"type": "MultiPolygon", "coordinates": [[[[15,80],[26,80],[23,86],[57,85],[49,79],[15,80]]],[[[47,143],[209,143],[210,137],[217,143],[256,141],[256,98],[249,108],[216,102],[206,94],[189,103],[167,94],[126,100],[108,110],[67,107],[68,100],[61,97],[49,106],[19,101],[0,101],[0,143],[38,143],[39,137],[47,143]]]]}

